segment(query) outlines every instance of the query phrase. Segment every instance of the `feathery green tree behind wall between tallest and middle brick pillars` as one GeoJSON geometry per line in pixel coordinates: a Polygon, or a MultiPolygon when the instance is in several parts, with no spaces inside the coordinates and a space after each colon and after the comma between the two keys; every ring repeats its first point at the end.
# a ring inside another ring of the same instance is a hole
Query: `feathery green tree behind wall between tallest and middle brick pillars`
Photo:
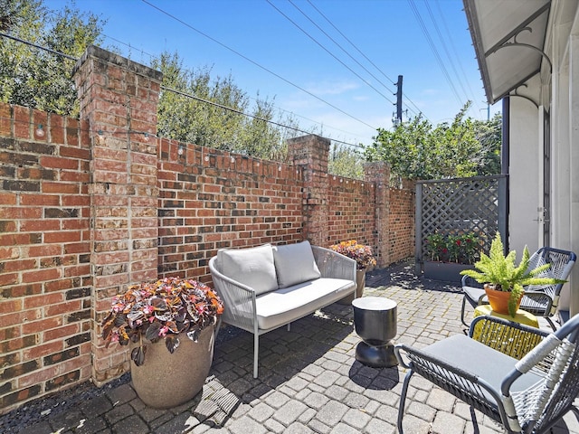
{"type": "Polygon", "coordinates": [[[295,137],[299,125],[291,116],[280,118],[273,100],[258,95],[252,105],[231,75],[212,77],[208,67],[186,69],[177,52],[162,53],[152,67],[163,72],[165,88],[158,105],[160,136],[247,156],[286,156],[285,139],[295,137]]]}

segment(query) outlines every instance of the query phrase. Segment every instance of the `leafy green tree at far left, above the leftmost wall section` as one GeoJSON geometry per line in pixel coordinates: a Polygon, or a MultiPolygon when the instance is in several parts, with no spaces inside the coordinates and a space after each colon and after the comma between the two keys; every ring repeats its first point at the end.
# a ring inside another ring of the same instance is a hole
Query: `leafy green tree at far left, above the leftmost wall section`
{"type": "Polygon", "coordinates": [[[100,42],[104,21],[71,2],[59,11],[41,1],[0,0],[0,23],[11,36],[49,48],[47,52],[0,37],[0,100],[64,115],[78,114],[71,79],[76,58],[100,42]]]}

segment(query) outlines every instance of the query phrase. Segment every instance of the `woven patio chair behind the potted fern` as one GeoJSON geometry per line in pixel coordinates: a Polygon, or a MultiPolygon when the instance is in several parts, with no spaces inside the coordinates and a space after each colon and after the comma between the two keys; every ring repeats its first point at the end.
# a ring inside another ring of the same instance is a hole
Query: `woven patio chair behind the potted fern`
{"type": "MultiPolygon", "coordinates": [[[[549,263],[551,267],[545,271],[545,275],[547,277],[565,280],[569,277],[576,259],[577,256],[573,251],[544,247],[533,253],[529,262],[529,269],[536,269],[536,267],[540,265],[549,263]]],[[[525,296],[521,300],[520,308],[533,315],[544,316],[549,325],[551,325],[551,328],[556,330],[551,316],[554,316],[556,313],[563,285],[563,283],[559,283],[556,285],[542,287],[529,286],[525,288],[525,296]]],[[[464,297],[462,297],[460,320],[462,324],[468,326],[469,324],[466,323],[464,318],[467,301],[470,303],[470,306],[477,307],[480,305],[488,305],[489,299],[485,294],[485,290],[481,288],[473,278],[469,278],[468,276],[462,278],[462,293],[464,297]]]]}

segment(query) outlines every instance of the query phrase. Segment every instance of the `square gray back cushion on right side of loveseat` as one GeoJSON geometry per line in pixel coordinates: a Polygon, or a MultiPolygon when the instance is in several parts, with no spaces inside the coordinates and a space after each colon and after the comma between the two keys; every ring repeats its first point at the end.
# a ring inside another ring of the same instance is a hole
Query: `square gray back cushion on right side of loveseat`
{"type": "Polygon", "coordinates": [[[273,246],[273,260],[280,288],[321,277],[309,241],[273,246]]]}

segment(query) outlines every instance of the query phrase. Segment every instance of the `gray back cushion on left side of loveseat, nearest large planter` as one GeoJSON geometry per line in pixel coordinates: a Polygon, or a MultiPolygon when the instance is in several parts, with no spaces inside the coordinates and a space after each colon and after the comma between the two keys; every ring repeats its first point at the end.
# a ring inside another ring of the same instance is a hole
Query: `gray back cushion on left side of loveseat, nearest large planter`
{"type": "Polygon", "coordinates": [[[278,288],[271,244],[249,249],[218,250],[221,272],[255,290],[256,295],[278,288]]]}

